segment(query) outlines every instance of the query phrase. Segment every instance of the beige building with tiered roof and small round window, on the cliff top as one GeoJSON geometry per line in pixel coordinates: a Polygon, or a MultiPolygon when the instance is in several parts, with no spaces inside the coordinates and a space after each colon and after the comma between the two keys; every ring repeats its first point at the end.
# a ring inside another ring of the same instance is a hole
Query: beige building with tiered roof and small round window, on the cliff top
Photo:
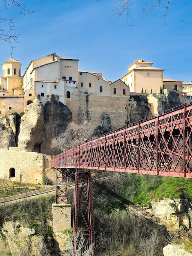
{"type": "Polygon", "coordinates": [[[163,69],[152,67],[152,62],[138,59],[128,67],[128,73],[121,77],[130,92],[159,92],[163,88],[163,69]]]}

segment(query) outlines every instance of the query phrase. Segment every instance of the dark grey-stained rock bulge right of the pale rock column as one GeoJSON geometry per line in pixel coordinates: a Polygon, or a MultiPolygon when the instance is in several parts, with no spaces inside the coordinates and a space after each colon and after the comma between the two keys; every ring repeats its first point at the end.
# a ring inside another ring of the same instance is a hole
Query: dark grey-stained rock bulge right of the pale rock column
{"type": "Polygon", "coordinates": [[[51,154],[51,139],[63,133],[71,119],[71,110],[59,101],[59,96],[47,95],[41,153],[51,154]]]}

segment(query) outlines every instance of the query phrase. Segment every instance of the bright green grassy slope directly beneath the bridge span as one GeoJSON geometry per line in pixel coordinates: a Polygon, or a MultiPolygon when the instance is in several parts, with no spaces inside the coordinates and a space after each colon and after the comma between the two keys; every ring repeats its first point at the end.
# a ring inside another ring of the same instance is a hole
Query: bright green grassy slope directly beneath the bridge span
{"type": "Polygon", "coordinates": [[[133,173],[118,175],[115,179],[116,184],[112,179],[93,183],[93,188],[104,189],[94,195],[95,207],[103,212],[123,209],[125,204],[147,206],[154,200],[165,198],[187,198],[192,202],[192,179],[133,173]]]}

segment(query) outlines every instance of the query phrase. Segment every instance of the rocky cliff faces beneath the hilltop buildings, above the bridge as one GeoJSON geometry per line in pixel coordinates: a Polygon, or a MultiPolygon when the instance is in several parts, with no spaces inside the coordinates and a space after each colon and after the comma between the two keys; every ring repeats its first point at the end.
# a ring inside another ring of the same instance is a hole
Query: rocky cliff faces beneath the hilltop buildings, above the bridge
{"type": "MultiPolygon", "coordinates": [[[[132,93],[127,102],[124,111],[126,115],[123,114],[122,117],[125,119],[124,124],[134,123],[168,108],[181,105],[186,102],[186,99],[179,98],[176,92],[169,92],[167,95],[150,94],[149,96],[132,93]]],[[[96,126],[102,127],[103,130],[110,130],[113,117],[109,113],[98,115],[93,112],[92,115],[97,117],[96,126]]],[[[58,95],[47,95],[45,107],[40,102],[40,96],[36,95],[22,117],[15,113],[10,117],[0,119],[0,148],[9,149],[9,146],[17,146],[17,150],[50,155],[51,139],[64,132],[71,120],[71,110],[59,101],[58,95]]],[[[116,125],[119,128],[119,124],[116,123],[116,125]]]]}

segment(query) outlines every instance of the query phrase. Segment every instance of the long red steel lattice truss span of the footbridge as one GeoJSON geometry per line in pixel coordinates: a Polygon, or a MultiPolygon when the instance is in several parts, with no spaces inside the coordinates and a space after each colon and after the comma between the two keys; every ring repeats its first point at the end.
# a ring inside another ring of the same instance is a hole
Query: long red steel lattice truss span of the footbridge
{"type": "Polygon", "coordinates": [[[192,106],[87,141],[51,166],[191,178],[192,106]]]}

